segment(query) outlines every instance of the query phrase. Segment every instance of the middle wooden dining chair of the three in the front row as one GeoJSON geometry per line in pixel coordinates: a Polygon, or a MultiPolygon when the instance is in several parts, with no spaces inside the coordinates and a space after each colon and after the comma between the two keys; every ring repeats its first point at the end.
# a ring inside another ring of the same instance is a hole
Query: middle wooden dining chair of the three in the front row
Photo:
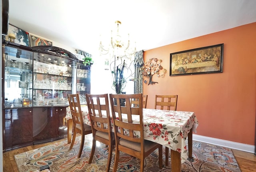
{"type": "Polygon", "coordinates": [[[92,150],[88,164],[92,163],[96,141],[102,142],[108,146],[108,163],[106,166],[106,172],[108,172],[115,143],[114,133],[111,129],[108,94],[86,94],[85,96],[92,126],[92,150]]]}

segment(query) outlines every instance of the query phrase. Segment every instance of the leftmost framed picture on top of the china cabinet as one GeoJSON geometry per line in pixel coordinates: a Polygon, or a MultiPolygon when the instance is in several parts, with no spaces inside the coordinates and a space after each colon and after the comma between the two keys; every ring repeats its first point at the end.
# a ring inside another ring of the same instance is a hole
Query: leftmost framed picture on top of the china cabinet
{"type": "Polygon", "coordinates": [[[16,44],[29,46],[29,34],[24,30],[17,28],[11,24],[8,25],[8,33],[6,35],[6,40],[14,42],[16,44]]]}

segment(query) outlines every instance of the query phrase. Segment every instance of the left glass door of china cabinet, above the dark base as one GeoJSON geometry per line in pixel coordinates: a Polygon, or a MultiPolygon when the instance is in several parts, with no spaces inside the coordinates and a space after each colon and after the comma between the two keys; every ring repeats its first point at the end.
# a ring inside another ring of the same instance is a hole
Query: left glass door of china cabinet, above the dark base
{"type": "Polygon", "coordinates": [[[33,52],[5,46],[4,58],[4,107],[32,106],[33,52]]]}

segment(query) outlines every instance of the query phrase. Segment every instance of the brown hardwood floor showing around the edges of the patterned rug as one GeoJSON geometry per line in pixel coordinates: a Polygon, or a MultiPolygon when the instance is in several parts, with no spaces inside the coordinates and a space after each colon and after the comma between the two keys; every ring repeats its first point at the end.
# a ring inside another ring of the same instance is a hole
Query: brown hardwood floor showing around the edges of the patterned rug
{"type": "MultiPolygon", "coordinates": [[[[62,140],[66,140],[67,138],[64,138],[62,140]]],[[[62,140],[57,140],[54,142],[59,142],[62,140]]],[[[3,172],[18,172],[18,168],[16,166],[16,162],[14,160],[15,154],[20,154],[22,152],[26,152],[29,150],[33,150],[36,148],[40,148],[49,144],[53,144],[54,142],[48,142],[45,144],[38,144],[38,145],[32,145],[27,146],[24,148],[19,148],[16,150],[11,150],[8,152],[3,153],[3,172]]],[[[236,158],[236,161],[238,162],[238,165],[242,172],[252,172],[256,171],[256,156],[252,153],[243,152],[240,150],[232,150],[234,153],[234,156],[236,158]]]]}

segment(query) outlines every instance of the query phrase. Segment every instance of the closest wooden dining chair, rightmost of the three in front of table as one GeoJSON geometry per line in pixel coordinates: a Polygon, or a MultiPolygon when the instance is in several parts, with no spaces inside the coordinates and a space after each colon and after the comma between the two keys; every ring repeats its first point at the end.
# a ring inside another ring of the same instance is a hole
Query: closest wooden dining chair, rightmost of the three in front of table
{"type": "Polygon", "coordinates": [[[112,118],[116,138],[113,171],[116,172],[120,151],[140,159],[140,171],[144,171],[145,158],[158,148],[159,168],[162,169],[162,145],[144,140],[142,94],[110,94],[112,118]],[[138,107],[133,107],[131,99],[138,99],[138,107]],[[126,100],[120,106],[120,99],[126,100]],[[116,100],[116,101],[114,101],[116,100]],[[116,105],[114,104],[116,102],[116,105]],[[134,132],[138,133],[134,133],[134,132]],[[138,137],[140,135],[140,137],[138,137]]]}

